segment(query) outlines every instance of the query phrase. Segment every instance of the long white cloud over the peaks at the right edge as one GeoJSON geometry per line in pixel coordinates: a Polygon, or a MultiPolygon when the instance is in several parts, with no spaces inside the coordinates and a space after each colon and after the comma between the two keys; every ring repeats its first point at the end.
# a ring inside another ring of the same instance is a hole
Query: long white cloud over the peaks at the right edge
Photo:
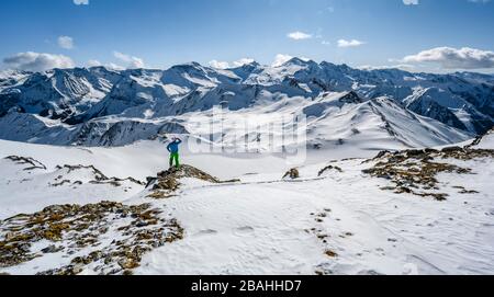
{"type": "Polygon", "coordinates": [[[403,62],[433,62],[445,69],[487,69],[494,68],[494,52],[445,46],[406,56],[403,62]]]}

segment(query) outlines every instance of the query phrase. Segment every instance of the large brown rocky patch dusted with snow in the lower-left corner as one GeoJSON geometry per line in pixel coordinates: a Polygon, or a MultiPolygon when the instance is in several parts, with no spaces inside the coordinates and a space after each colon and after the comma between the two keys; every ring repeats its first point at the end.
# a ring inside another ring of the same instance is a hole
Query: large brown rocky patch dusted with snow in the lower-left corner
{"type": "Polygon", "coordinates": [[[0,221],[0,267],[61,253],[66,265],[38,274],[130,274],[145,253],[182,237],[177,220],[149,204],[54,205],[0,221]]]}

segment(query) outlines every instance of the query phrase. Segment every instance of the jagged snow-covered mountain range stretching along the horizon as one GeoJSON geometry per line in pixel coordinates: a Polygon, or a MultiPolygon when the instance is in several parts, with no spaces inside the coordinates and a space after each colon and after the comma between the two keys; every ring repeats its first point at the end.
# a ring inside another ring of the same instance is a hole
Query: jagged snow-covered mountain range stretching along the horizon
{"type": "Polygon", "coordinates": [[[438,146],[494,126],[494,76],[360,70],[299,58],[225,70],[192,62],[168,70],[0,73],[0,138],[7,140],[122,146],[164,133],[194,134],[188,119],[214,106],[227,115],[303,113],[315,148],[438,146]]]}

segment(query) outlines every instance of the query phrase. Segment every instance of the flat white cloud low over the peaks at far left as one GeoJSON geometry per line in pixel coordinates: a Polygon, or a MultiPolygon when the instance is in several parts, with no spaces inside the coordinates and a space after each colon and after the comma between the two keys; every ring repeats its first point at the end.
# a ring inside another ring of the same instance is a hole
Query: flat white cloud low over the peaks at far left
{"type": "Polygon", "coordinates": [[[8,68],[26,71],[45,71],[53,68],[72,68],[71,58],[64,55],[40,54],[34,52],[19,53],[3,59],[8,68]]]}

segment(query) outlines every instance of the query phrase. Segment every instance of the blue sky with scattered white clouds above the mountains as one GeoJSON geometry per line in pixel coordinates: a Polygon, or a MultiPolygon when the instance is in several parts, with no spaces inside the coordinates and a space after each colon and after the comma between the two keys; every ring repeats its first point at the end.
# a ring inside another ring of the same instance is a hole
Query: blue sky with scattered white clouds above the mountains
{"type": "Polygon", "coordinates": [[[5,0],[0,67],[226,67],[299,56],[494,72],[493,15],[494,0],[5,0]]]}

